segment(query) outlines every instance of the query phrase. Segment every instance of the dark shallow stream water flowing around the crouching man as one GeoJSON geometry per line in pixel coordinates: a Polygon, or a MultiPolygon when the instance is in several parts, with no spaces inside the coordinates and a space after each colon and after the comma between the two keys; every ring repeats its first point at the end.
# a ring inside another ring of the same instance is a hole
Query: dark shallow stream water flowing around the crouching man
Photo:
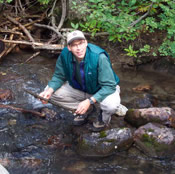
{"type": "MultiPolygon", "coordinates": [[[[24,89],[41,92],[54,71],[56,58],[38,56],[25,64],[30,53],[10,54],[0,67],[0,88],[10,89],[13,99],[5,104],[40,110],[52,108],[56,115],[44,119],[9,109],[0,109],[0,163],[13,174],[135,174],[173,173],[174,160],[138,156],[135,148],[101,159],[87,159],[76,153],[72,134],[72,114],[41,102],[24,89]]],[[[115,66],[121,79],[122,102],[126,105],[138,93],[140,84],[152,86],[151,93],[160,98],[160,106],[174,106],[175,78],[153,72],[123,70],[115,66]]]]}

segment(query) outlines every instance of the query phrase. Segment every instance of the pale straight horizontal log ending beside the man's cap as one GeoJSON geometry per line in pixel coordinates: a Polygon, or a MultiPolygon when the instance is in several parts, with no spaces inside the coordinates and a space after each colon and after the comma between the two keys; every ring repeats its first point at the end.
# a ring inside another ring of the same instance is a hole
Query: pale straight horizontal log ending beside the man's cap
{"type": "Polygon", "coordinates": [[[34,46],[34,49],[62,50],[64,48],[64,45],[61,44],[47,44],[40,42],[27,42],[27,41],[16,41],[16,40],[5,40],[5,39],[1,39],[1,41],[5,43],[31,45],[34,46]]]}

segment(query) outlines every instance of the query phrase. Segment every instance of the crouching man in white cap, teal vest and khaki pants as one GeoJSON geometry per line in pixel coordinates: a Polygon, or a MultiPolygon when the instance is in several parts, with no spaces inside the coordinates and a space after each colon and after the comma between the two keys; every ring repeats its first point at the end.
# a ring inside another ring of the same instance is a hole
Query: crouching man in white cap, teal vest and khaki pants
{"type": "Polygon", "coordinates": [[[40,96],[75,109],[75,125],[85,123],[87,111],[99,103],[101,111],[93,123],[98,131],[110,123],[112,114],[122,111],[124,115],[127,111],[120,104],[118,84],[107,52],[88,44],[84,34],[76,30],[68,34],[67,47],[62,50],[53,77],[40,96]]]}

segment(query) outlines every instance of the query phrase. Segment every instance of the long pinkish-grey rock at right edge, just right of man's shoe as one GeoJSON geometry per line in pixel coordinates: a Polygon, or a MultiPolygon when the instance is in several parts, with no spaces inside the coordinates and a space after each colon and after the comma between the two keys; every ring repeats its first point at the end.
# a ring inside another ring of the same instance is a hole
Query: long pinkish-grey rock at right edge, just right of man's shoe
{"type": "Polygon", "coordinates": [[[175,128],[175,111],[169,107],[129,109],[125,120],[135,127],[156,122],[175,128]]]}

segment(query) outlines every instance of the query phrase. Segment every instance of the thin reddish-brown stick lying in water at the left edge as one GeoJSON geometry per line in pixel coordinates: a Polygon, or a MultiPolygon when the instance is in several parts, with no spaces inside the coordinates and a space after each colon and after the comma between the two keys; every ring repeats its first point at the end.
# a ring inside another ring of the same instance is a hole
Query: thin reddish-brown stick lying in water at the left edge
{"type": "Polygon", "coordinates": [[[28,109],[23,109],[23,108],[17,108],[17,107],[11,106],[11,105],[0,104],[0,108],[7,108],[7,109],[12,109],[15,111],[23,112],[23,113],[31,113],[31,114],[39,116],[39,117],[45,117],[44,113],[40,113],[37,111],[28,110],[28,109]]]}

